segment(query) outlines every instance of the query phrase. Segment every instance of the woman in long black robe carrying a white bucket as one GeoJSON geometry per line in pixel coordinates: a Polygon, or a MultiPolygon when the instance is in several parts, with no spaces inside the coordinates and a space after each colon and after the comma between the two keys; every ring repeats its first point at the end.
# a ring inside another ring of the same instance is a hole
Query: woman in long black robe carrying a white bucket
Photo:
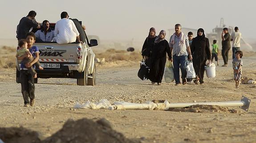
{"type": "Polygon", "coordinates": [[[209,39],[205,37],[202,28],[198,29],[197,37],[192,41],[191,54],[196,74],[195,84],[203,84],[204,66],[207,60],[211,61],[211,51],[209,39]]]}

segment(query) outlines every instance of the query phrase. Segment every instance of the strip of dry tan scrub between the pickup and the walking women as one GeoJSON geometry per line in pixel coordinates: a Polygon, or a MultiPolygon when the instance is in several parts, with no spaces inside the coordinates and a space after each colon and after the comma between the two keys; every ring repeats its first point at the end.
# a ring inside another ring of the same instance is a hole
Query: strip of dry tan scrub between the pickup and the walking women
{"type": "Polygon", "coordinates": [[[97,58],[105,58],[106,62],[118,60],[139,61],[142,59],[141,53],[138,51],[127,52],[126,50],[108,49],[102,53],[95,53],[97,58]]]}

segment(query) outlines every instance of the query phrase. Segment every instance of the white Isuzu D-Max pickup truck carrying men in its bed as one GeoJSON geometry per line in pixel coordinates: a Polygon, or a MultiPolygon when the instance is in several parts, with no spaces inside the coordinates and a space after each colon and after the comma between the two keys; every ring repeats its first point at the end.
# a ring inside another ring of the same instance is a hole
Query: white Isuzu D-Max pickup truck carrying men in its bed
{"type": "MultiPolygon", "coordinates": [[[[91,47],[97,46],[98,42],[96,39],[90,39],[89,42],[81,27],[81,21],[77,20],[77,22],[74,21],[83,43],[58,44],[56,42],[37,43],[37,41],[34,43],[34,46],[39,48],[39,62],[44,68],[44,70],[36,70],[37,78],[76,78],[77,85],[95,85],[95,54],[91,47]]],[[[50,27],[54,29],[55,23],[50,23],[50,27]]],[[[17,83],[20,83],[20,62],[17,61],[19,65],[16,69],[17,83]]]]}

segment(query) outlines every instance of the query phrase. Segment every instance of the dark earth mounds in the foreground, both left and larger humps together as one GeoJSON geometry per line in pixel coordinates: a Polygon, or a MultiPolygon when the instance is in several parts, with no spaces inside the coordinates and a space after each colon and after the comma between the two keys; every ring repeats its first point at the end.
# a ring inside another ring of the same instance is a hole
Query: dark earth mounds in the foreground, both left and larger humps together
{"type": "Polygon", "coordinates": [[[4,143],[139,143],[114,131],[106,119],[94,122],[89,119],[68,120],[61,130],[40,141],[38,133],[20,128],[0,128],[4,143]]]}

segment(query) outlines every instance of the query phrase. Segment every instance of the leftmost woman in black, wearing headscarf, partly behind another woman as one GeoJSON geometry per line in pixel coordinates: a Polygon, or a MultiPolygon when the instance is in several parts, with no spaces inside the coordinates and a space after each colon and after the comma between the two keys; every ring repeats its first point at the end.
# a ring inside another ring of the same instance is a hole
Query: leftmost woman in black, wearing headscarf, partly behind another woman
{"type": "MultiPolygon", "coordinates": [[[[146,60],[145,56],[146,56],[147,51],[150,52],[150,49],[152,49],[155,38],[156,38],[155,29],[154,29],[154,27],[151,27],[150,30],[149,30],[149,34],[148,34],[147,38],[145,39],[145,42],[144,42],[144,44],[142,46],[142,50],[141,50],[142,58],[144,60],[146,60]]],[[[149,58],[146,60],[145,64],[146,64],[146,66],[150,66],[150,59],[149,58]]]]}

